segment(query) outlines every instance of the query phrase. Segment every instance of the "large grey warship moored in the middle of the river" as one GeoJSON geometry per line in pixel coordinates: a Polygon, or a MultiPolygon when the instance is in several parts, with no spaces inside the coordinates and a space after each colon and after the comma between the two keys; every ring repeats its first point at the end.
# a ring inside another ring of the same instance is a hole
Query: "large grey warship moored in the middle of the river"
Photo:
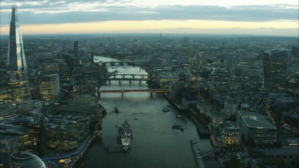
{"type": "Polygon", "coordinates": [[[124,123],[122,124],[122,128],[120,132],[121,136],[121,147],[123,151],[127,151],[131,148],[131,140],[132,140],[132,130],[130,123],[125,120],[124,123]]]}

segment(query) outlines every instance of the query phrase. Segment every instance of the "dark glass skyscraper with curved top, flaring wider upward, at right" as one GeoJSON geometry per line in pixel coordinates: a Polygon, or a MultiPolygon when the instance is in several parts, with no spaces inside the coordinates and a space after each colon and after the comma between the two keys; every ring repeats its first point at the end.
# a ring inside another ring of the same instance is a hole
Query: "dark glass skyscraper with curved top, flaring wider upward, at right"
{"type": "Polygon", "coordinates": [[[274,49],[263,53],[264,89],[277,90],[287,79],[289,50],[274,49]]]}

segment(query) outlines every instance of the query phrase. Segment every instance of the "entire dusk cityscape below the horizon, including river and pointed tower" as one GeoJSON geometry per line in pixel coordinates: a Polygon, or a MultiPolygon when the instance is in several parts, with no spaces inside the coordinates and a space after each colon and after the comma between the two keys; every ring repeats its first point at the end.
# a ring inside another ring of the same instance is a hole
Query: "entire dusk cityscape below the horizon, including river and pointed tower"
{"type": "Polygon", "coordinates": [[[298,37],[20,27],[13,5],[0,168],[299,167],[298,37]]]}

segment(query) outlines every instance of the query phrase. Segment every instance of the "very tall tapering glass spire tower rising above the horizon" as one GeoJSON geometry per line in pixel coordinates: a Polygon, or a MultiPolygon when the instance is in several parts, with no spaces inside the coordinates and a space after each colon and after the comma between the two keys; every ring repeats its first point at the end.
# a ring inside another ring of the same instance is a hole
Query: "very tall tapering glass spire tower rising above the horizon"
{"type": "Polygon", "coordinates": [[[7,91],[10,101],[29,97],[30,87],[17,6],[12,5],[7,52],[7,91]]]}

